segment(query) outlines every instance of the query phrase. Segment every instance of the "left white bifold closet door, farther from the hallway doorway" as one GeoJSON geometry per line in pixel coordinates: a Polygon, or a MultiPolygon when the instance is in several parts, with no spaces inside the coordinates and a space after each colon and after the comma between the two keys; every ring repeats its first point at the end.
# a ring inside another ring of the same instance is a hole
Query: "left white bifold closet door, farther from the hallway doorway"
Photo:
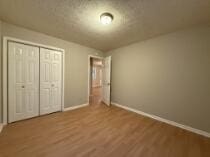
{"type": "Polygon", "coordinates": [[[9,122],[39,115],[39,48],[8,43],[9,122]]]}

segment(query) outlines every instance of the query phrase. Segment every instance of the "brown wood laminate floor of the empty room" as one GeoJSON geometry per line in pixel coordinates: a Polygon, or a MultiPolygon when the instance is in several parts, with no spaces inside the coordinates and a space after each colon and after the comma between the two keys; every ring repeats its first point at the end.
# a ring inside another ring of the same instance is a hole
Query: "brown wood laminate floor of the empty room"
{"type": "Polygon", "coordinates": [[[92,98],[88,107],[7,125],[0,157],[210,157],[210,139],[92,98]]]}

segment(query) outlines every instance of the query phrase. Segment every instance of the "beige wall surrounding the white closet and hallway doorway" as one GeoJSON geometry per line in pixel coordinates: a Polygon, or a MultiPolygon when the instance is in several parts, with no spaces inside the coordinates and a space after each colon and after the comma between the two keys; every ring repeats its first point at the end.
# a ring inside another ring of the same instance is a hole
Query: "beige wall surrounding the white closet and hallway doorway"
{"type": "Polygon", "coordinates": [[[2,23],[2,36],[15,37],[65,49],[65,107],[87,103],[88,55],[102,56],[101,51],[4,22],[2,23]]]}

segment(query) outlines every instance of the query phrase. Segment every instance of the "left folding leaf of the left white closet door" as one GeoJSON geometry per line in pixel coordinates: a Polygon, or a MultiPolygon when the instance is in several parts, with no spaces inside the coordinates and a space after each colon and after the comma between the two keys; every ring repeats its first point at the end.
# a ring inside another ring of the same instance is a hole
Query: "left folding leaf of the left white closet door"
{"type": "Polygon", "coordinates": [[[24,101],[24,51],[19,44],[8,44],[8,112],[9,122],[25,116],[24,101]]]}

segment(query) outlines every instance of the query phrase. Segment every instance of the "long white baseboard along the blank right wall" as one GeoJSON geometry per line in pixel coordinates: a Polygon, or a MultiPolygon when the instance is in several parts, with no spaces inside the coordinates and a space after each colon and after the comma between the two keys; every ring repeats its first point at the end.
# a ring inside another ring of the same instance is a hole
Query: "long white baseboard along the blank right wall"
{"type": "Polygon", "coordinates": [[[136,109],[124,106],[124,105],[120,105],[120,104],[117,104],[115,102],[112,102],[111,104],[114,105],[114,106],[123,108],[125,110],[131,111],[131,112],[135,112],[137,114],[140,114],[140,115],[143,115],[143,116],[146,116],[146,117],[149,117],[149,118],[152,118],[152,119],[155,119],[155,120],[158,120],[158,121],[161,121],[161,122],[164,122],[164,123],[167,123],[167,124],[170,124],[170,125],[173,125],[173,126],[176,126],[176,127],[182,128],[182,129],[185,129],[187,131],[190,131],[190,132],[193,132],[193,133],[196,133],[196,134],[199,134],[199,135],[202,135],[202,136],[210,138],[210,133],[209,132],[206,132],[206,131],[203,131],[203,130],[199,130],[199,129],[195,129],[195,128],[192,128],[190,126],[186,126],[186,125],[183,125],[183,124],[179,124],[177,122],[174,122],[174,121],[171,121],[171,120],[167,120],[167,119],[164,119],[164,118],[152,115],[152,114],[148,114],[148,113],[145,113],[145,112],[142,112],[142,111],[139,111],[139,110],[136,110],[136,109]]]}

